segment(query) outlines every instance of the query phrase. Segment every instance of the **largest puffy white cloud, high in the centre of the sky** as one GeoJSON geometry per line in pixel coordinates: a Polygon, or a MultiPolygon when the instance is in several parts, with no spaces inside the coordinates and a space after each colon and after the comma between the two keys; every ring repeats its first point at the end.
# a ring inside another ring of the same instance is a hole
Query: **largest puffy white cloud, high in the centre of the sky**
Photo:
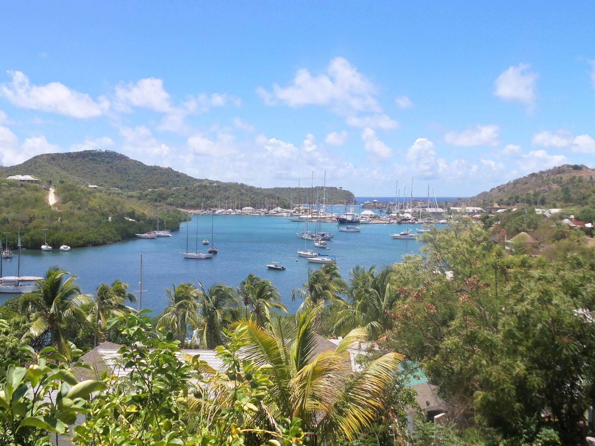
{"type": "Polygon", "coordinates": [[[325,73],[312,76],[302,68],[287,87],[273,84],[273,93],[262,87],[256,93],[267,105],[277,102],[290,107],[321,105],[342,114],[381,111],[375,98],[377,87],[342,57],[331,59],[325,73]]]}

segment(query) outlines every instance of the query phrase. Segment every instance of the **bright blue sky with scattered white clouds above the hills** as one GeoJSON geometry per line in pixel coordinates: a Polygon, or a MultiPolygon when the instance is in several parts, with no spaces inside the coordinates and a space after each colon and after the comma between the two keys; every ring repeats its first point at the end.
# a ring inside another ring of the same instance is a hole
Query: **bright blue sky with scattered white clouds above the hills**
{"type": "MultiPolygon", "coordinates": [[[[21,2],[22,3],[22,2],[21,2]]],[[[0,164],[471,195],[595,164],[593,4],[48,2],[0,15],[0,164]],[[545,7],[544,7],[545,6],[545,7]]],[[[26,174],[27,172],[23,172],[26,174]]]]}

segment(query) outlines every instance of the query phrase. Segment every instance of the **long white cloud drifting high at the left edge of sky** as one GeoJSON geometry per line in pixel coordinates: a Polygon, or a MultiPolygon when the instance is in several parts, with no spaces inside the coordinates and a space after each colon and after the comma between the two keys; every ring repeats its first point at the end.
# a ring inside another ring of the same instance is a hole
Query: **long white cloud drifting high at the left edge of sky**
{"type": "Polygon", "coordinates": [[[55,112],[73,118],[92,118],[103,114],[109,105],[104,98],[96,102],[86,93],[77,92],[60,82],[32,85],[21,71],[8,71],[8,74],[12,81],[0,85],[0,96],[21,108],[55,112]]]}

